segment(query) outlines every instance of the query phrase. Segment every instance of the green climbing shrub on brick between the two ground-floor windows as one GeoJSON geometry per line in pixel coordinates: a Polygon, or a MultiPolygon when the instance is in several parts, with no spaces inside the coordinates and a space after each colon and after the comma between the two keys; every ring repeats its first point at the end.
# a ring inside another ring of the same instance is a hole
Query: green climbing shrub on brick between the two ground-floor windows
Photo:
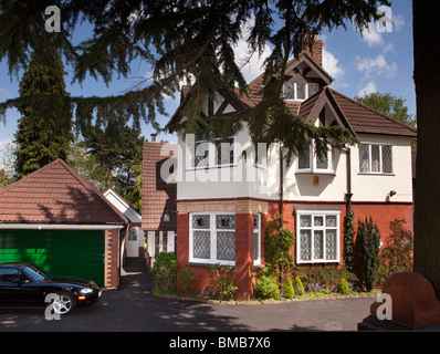
{"type": "Polygon", "coordinates": [[[275,277],[282,284],[294,266],[291,253],[294,236],[287,228],[280,228],[280,219],[281,216],[277,216],[266,225],[264,259],[271,275],[275,277]]]}

